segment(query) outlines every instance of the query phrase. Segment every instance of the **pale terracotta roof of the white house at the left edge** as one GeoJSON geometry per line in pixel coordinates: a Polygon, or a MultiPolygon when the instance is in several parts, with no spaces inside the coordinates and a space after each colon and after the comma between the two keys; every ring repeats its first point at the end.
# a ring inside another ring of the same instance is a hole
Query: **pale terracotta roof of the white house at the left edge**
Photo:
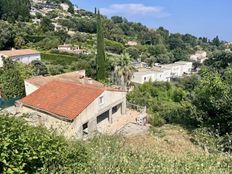
{"type": "Polygon", "coordinates": [[[39,54],[39,52],[31,49],[0,51],[0,55],[5,57],[15,57],[30,54],[39,54]]]}

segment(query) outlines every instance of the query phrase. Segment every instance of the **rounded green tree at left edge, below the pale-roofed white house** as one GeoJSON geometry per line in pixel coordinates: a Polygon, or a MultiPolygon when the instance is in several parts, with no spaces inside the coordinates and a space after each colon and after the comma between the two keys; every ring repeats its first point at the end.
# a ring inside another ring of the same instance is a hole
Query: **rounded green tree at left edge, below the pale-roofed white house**
{"type": "Polygon", "coordinates": [[[23,97],[24,82],[11,59],[3,58],[3,68],[0,69],[0,88],[6,99],[23,97]]]}

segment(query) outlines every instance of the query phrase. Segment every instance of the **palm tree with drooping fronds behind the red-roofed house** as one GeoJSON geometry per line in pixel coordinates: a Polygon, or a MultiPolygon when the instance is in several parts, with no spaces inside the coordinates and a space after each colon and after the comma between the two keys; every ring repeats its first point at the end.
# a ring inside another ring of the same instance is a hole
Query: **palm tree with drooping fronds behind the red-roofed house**
{"type": "Polygon", "coordinates": [[[124,88],[129,85],[129,81],[135,71],[130,62],[130,55],[123,53],[119,58],[118,66],[115,68],[116,74],[120,78],[120,83],[124,88]]]}

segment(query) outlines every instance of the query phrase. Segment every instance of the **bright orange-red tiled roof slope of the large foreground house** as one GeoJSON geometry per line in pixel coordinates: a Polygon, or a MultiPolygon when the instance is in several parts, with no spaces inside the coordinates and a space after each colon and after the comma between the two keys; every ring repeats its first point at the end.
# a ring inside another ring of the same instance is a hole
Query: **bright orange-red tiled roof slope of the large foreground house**
{"type": "Polygon", "coordinates": [[[21,100],[22,104],[54,116],[74,120],[104,92],[72,82],[52,81],[21,100]]]}

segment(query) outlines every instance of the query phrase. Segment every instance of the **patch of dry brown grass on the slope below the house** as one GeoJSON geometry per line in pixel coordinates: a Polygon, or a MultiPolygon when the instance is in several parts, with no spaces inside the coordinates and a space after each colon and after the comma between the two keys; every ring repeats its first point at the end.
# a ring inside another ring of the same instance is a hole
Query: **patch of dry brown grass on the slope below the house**
{"type": "Polygon", "coordinates": [[[203,154],[202,148],[191,142],[186,130],[173,125],[152,128],[150,134],[125,138],[125,144],[136,150],[154,150],[165,155],[185,156],[203,154]]]}

